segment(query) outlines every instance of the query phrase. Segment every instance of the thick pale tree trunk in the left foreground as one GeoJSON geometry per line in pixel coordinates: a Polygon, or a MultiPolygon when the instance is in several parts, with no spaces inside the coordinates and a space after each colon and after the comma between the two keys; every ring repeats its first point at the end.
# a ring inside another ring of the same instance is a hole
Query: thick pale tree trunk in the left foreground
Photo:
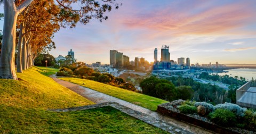
{"type": "Polygon", "coordinates": [[[14,3],[4,0],[3,44],[0,57],[0,78],[17,80],[14,55],[16,38],[16,21],[18,13],[14,3]]]}

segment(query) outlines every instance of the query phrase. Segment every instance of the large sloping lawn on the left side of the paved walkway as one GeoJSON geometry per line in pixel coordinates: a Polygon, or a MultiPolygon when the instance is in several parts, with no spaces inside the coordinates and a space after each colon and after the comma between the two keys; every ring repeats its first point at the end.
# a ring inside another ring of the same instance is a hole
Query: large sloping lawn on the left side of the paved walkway
{"type": "Polygon", "coordinates": [[[112,107],[50,112],[94,104],[62,87],[36,68],[0,79],[0,133],[166,133],[112,107]]]}

